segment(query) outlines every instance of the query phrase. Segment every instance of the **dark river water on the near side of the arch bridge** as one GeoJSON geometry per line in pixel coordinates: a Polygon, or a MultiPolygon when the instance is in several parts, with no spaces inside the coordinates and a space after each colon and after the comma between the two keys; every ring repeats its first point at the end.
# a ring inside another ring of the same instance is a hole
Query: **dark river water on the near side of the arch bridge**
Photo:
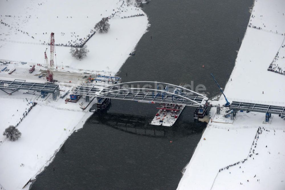
{"type": "Polygon", "coordinates": [[[205,124],[154,127],[150,115],[113,111],[94,113],[31,189],[175,189],[205,124]]]}

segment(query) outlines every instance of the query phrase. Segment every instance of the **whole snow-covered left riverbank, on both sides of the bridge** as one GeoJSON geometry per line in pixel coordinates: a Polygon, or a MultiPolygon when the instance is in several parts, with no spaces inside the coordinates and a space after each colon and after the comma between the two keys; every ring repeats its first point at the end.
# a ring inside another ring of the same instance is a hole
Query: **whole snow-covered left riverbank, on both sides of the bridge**
{"type": "MultiPolygon", "coordinates": [[[[76,60],[69,53],[70,47],[56,46],[58,69],[54,71],[54,78],[60,81],[61,95],[84,83],[84,75],[114,75],[148,27],[145,13],[132,1],[127,5],[123,0],[9,0],[1,1],[0,12],[0,59],[12,62],[7,65],[9,69],[16,68],[11,75],[0,72],[0,79],[39,83],[46,80],[35,76],[44,69],[37,63],[44,65],[44,51],[49,46],[42,43],[47,43],[51,32],[55,33],[56,44],[69,44],[71,40],[78,43],[79,39],[87,38],[102,17],[110,17],[109,32],[96,32],[86,43],[90,51],[86,59],[76,60]],[[27,64],[22,65],[21,61],[27,64]],[[30,74],[30,65],[34,64],[36,70],[30,74]]],[[[0,66],[4,67],[6,65],[0,66]]],[[[0,144],[0,187],[22,189],[30,178],[43,171],[66,139],[83,127],[92,114],[88,110],[93,103],[82,111],[80,107],[87,106],[85,101],[66,104],[64,99],[52,101],[51,96],[42,99],[23,91],[13,95],[1,91],[0,130],[3,132],[9,125],[21,121],[17,128],[22,136],[15,142],[0,137],[3,141],[0,144]],[[21,121],[30,101],[38,104],[21,121]]]]}

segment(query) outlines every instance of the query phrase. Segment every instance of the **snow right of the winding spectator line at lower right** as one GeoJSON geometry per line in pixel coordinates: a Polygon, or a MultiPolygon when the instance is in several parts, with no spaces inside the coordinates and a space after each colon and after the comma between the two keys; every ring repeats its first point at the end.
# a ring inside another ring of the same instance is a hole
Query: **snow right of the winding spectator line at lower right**
{"type": "Polygon", "coordinates": [[[284,141],[283,130],[262,130],[253,156],[219,173],[213,189],[284,189],[284,141]]]}

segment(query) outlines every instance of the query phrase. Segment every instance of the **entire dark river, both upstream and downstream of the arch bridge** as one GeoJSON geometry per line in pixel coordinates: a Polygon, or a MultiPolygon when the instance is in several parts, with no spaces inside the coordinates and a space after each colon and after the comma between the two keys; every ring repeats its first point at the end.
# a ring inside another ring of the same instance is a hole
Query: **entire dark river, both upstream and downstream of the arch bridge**
{"type": "MultiPolygon", "coordinates": [[[[122,82],[193,81],[194,87],[205,85],[208,97],[219,94],[210,73],[225,87],[252,3],[152,0],[142,5],[151,27],[121,67],[122,82]]],[[[107,113],[93,114],[70,136],[31,189],[176,189],[206,123],[194,121],[195,108],[186,107],[172,127],[153,127],[155,108],[112,100],[107,113]]]]}

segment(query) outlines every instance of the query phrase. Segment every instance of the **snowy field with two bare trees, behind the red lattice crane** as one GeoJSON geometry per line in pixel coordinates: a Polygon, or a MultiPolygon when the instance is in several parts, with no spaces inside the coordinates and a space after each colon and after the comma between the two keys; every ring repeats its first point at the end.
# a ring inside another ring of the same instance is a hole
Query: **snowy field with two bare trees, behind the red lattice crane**
{"type": "Polygon", "coordinates": [[[86,43],[89,49],[86,59],[74,59],[69,53],[70,47],[56,46],[55,51],[58,66],[117,72],[148,26],[146,15],[121,19],[144,14],[123,0],[0,2],[1,22],[7,24],[0,24],[0,58],[12,61],[44,65],[47,46],[41,44],[48,42],[51,32],[54,32],[56,44],[77,44],[79,39],[84,40],[92,34],[91,30],[102,17],[114,14],[109,19],[109,32],[96,32],[86,43]]]}

